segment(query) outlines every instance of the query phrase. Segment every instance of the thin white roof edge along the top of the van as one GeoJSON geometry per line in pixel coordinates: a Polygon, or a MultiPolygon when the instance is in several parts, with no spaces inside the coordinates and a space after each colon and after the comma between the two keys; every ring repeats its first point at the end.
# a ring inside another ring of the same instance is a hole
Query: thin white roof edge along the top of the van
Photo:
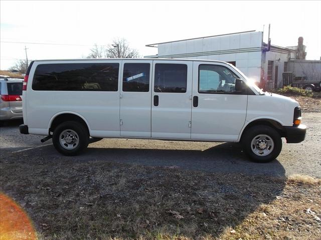
{"type": "Polygon", "coordinates": [[[100,61],[100,60],[164,60],[164,61],[201,61],[201,62],[213,62],[213,63],[225,63],[218,60],[207,60],[207,59],[184,59],[184,58],[82,58],[82,59],[42,59],[35,60],[35,62],[46,62],[46,61],[100,61]]]}

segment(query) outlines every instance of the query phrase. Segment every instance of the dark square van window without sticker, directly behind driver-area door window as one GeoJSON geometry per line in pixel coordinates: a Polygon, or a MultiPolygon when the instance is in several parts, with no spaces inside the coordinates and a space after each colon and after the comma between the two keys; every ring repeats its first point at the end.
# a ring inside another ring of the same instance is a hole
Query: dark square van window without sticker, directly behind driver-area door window
{"type": "Polygon", "coordinates": [[[154,92],[186,93],[186,64],[155,64],[154,92]]]}

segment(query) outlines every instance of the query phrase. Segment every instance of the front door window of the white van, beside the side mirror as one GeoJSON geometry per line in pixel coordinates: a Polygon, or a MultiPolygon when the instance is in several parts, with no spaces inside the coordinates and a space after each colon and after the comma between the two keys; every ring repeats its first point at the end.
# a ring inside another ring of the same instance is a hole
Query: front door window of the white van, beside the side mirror
{"type": "Polygon", "coordinates": [[[220,65],[199,66],[199,93],[231,94],[235,91],[236,76],[231,70],[220,65]]]}

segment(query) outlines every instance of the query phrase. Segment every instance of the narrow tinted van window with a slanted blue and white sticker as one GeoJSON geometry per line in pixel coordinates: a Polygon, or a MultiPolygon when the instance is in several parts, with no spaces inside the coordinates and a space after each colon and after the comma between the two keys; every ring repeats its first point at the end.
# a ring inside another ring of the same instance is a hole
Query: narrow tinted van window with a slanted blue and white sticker
{"type": "Polygon", "coordinates": [[[148,92],[149,69],[149,63],[125,63],[122,78],[122,91],[148,92]]]}

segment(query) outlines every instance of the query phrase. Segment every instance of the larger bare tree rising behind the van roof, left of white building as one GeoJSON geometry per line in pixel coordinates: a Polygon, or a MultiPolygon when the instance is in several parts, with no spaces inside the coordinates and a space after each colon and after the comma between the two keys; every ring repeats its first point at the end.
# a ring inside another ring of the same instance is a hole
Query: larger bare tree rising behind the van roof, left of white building
{"type": "Polygon", "coordinates": [[[125,39],[113,40],[106,49],[107,58],[139,58],[137,50],[129,48],[128,42],[125,39]]]}

